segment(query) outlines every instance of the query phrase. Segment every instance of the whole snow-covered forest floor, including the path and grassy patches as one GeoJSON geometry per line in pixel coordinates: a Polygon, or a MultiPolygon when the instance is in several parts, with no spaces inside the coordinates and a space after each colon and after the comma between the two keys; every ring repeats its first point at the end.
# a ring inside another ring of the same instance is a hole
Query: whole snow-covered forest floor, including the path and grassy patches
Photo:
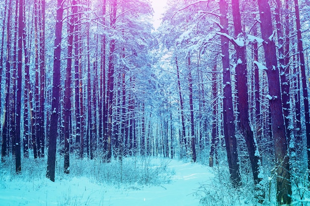
{"type": "Polygon", "coordinates": [[[23,159],[22,172],[16,175],[14,161],[7,158],[0,163],[0,206],[258,205],[251,181],[232,189],[225,167],[165,158],[111,163],[71,158],[70,174],[64,174],[62,164],[58,158],[51,182],[45,177],[45,159],[23,159]]]}

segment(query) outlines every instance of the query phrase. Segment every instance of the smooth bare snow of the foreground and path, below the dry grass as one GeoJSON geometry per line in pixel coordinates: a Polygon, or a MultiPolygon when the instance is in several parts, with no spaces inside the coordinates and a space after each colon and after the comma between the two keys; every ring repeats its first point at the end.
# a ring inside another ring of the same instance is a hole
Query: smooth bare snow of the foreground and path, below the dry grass
{"type": "MultiPolygon", "coordinates": [[[[0,206],[198,206],[199,183],[214,177],[207,166],[172,160],[170,184],[137,188],[104,186],[86,177],[51,182],[2,182],[0,206]]],[[[1,181],[0,181],[1,182],[1,181]]]]}

